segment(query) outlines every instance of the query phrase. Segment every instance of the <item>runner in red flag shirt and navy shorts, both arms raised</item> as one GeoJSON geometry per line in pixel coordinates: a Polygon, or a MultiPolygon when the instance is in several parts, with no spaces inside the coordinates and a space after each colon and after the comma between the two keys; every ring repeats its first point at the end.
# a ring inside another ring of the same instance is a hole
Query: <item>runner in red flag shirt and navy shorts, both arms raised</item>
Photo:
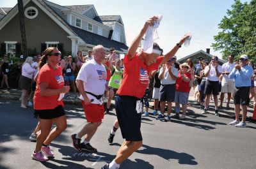
{"type": "Polygon", "coordinates": [[[140,42],[147,31],[148,26],[153,26],[158,18],[152,17],[145,22],[140,34],[132,41],[131,47],[128,49],[124,57],[124,77],[116,96],[116,115],[120,124],[120,129],[124,143],[116,154],[116,158],[102,169],[119,168],[120,164],[131,154],[138,150],[142,145],[141,126],[141,102],[140,98],[147,88],[148,74],[150,71],[157,70],[161,62],[169,61],[173,55],[179,50],[188,35],[182,39],[170,50],[166,55],[161,56],[161,48],[157,43],[153,45],[153,53],[146,54],[143,51],[136,53],[140,42]]]}

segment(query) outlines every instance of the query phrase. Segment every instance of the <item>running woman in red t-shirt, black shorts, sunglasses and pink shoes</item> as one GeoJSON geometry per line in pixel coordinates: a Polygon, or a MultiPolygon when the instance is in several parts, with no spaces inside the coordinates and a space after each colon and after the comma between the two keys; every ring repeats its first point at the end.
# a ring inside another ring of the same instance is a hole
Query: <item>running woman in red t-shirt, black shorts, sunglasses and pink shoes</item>
{"type": "Polygon", "coordinates": [[[47,63],[40,69],[36,80],[34,109],[39,117],[41,132],[36,138],[36,148],[31,157],[38,161],[46,161],[47,157],[53,156],[49,144],[67,128],[61,99],[70,87],[64,86],[61,67],[57,65],[60,55],[58,48],[50,47],[44,51],[42,59],[47,57],[47,63]],[[53,121],[56,127],[51,131],[53,121]]]}

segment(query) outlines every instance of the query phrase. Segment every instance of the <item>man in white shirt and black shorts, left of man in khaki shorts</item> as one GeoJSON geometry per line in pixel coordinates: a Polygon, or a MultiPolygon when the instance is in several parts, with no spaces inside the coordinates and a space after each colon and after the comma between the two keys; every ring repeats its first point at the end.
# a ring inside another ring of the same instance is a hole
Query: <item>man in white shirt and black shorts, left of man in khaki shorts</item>
{"type": "Polygon", "coordinates": [[[204,69],[204,75],[206,77],[204,93],[206,94],[205,98],[205,107],[202,114],[207,113],[207,108],[209,106],[211,94],[214,99],[215,105],[215,115],[218,113],[218,94],[219,94],[219,81],[220,75],[222,73],[222,67],[218,64],[218,57],[212,56],[212,61],[204,69]]]}

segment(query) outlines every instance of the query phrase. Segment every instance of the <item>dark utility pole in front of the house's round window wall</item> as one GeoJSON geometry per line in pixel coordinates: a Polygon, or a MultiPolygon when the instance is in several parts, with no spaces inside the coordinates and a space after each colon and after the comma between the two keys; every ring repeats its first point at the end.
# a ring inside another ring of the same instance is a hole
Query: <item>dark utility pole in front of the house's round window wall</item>
{"type": "Polygon", "coordinates": [[[27,39],[26,39],[24,8],[23,8],[22,0],[18,0],[18,8],[19,8],[19,18],[20,18],[20,34],[21,34],[22,54],[23,54],[23,59],[26,60],[26,58],[28,57],[28,45],[27,45],[27,39]]]}

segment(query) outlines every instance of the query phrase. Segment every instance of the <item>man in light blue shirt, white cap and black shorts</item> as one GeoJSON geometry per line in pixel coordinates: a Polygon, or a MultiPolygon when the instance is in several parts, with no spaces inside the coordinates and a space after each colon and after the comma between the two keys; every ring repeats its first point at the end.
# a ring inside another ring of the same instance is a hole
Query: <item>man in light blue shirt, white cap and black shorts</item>
{"type": "Polygon", "coordinates": [[[253,75],[253,68],[248,64],[248,56],[241,55],[239,63],[236,64],[235,68],[228,75],[229,78],[234,78],[235,81],[235,92],[234,92],[234,104],[236,120],[230,122],[230,125],[235,125],[237,128],[246,127],[246,115],[247,107],[249,105],[251,78],[253,75]],[[239,121],[240,107],[242,108],[243,117],[242,121],[239,121]]]}

